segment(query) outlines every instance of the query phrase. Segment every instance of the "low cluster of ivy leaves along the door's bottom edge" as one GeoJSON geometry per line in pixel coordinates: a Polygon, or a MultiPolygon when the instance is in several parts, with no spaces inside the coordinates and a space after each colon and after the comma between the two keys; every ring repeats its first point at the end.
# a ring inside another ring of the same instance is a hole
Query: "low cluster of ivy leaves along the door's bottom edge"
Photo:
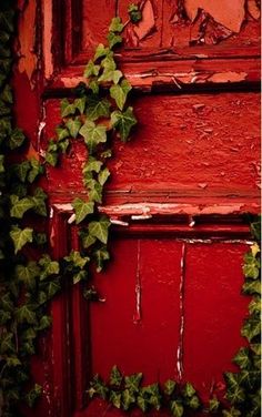
{"type": "Polygon", "coordinates": [[[95,375],[88,394],[90,398],[99,396],[124,411],[138,407],[145,413],[165,407],[172,416],[182,417],[189,410],[200,409],[201,401],[192,384],[181,386],[168,379],[163,387],[158,383],[141,386],[142,378],[141,373],[123,376],[118,367],[113,366],[109,383],[105,384],[95,375]]]}

